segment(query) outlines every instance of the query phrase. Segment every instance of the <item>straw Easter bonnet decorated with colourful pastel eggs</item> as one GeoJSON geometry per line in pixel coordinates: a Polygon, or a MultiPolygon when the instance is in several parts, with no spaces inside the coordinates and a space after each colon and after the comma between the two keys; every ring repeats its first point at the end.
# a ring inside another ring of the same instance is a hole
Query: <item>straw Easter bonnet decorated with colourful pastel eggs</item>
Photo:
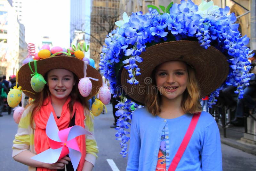
{"type": "MultiPolygon", "coordinates": [[[[33,45],[29,45],[33,48],[33,45]]],[[[30,49],[31,50],[31,49],[30,49]]],[[[43,90],[46,81],[45,74],[52,69],[66,69],[73,72],[80,80],[78,90],[87,100],[91,99],[102,86],[100,73],[89,65],[89,60],[84,60],[84,51],[88,51],[88,45],[83,44],[82,48],[74,45],[72,48],[50,47],[44,45],[34,55],[35,60],[24,64],[18,72],[18,83],[21,90],[32,99],[36,99],[43,90]]],[[[87,58],[88,59],[88,58],[87,58]]]]}

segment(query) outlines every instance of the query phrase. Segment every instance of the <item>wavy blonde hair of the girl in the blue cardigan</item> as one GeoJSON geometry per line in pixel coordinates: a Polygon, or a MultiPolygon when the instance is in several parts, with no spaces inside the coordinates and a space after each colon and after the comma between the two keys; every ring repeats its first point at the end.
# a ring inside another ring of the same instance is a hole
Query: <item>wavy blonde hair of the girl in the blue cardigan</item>
{"type": "MultiPolygon", "coordinates": [[[[157,67],[156,67],[157,68],[157,67]]],[[[152,113],[152,115],[159,115],[161,112],[161,95],[157,90],[156,87],[156,78],[155,78],[155,71],[152,72],[153,82],[150,85],[150,93],[147,93],[145,106],[147,107],[148,111],[152,113]]],[[[190,65],[187,64],[188,68],[188,84],[187,88],[183,93],[182,100],[181,100],[181,108],[184,110],[185,113],[196,113],[202,111],[202,106],[200,104],[200,88],[196,80],[195,70],[191,68],[190,65]]]]}

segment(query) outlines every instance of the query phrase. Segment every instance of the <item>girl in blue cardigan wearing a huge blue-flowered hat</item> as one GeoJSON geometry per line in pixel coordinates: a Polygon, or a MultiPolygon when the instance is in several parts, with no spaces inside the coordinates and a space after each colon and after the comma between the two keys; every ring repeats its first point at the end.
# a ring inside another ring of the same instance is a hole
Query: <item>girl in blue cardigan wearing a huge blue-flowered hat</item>
{"type": "Polygon", "coordinates": [[[229,85],[243,97],[249,38],[241,37],[229,7],[212,1],[160,8],[124,13],[102,49],[100,69],[121,95],[116,139],[124,157],[131,139],[126,170],[222,170],[219,129],[200,99],[211,94],[215,104],[229,85]]]}

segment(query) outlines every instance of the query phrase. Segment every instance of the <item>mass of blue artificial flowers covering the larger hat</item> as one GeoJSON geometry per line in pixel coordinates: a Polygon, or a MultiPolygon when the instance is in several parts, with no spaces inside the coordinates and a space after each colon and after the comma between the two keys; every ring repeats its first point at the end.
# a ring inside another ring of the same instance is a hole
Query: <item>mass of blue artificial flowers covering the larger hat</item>
{"type": "MultiPolygon", "coordinates": [[[[228,60],[230,69],[226,81],[210,96],[210,104],[215,104],[219,91],[229,85],[237,87],[235,93],[239,98],[243,97],[243,85],[248,85],[251,74],[249,57],[252,51],[245,45],[249,38],[241,37],[234,13],[227,15],[229,7],[224,9],[213,5],[213,2],[202,2],[199,6],[191,0],[181,0],[180,4],[169,4],[167,8],[159,6],[163,13],[155,6],[148,6],[148,13],[132,13],[130,17],[123,15],[124,21],[116,22],[118,26],[108,34],[105,39],[106,46],[102,48],[100,58],[100,70],[104,77],[109,80],[111,92],[121,95],[121,101],[116,105],[120,116],[116,130],[116,137],[122,142],[121,154],[126,156],[129,128],[132,111],[137,104],[126,100],[116,89],[118,85],[117,74],[125,68],[129,73],[130,84],[138,84],[136,76],[140,75],[140,68],[136,63],[143,63],[140,54],[146,51],[146,47],[162,43],[164,41],[186,40],[196,38],[200,46],[207,49],[213,46],[222,52],[228,60]]],[[[209,59],[211,60],[211,59],[209,59]]]]}

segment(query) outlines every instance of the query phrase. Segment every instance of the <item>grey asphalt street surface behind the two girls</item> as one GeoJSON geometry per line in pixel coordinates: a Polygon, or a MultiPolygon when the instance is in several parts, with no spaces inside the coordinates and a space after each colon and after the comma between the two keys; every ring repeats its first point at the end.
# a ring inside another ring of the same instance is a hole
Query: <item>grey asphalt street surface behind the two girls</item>
{"type": "MultiPolygon", "coordinates": [[[[119,154],[121,148],[119,141],[115,140],[116,130],[110,128],[114,123],[112,105],[106,105],[108,113],[95,117],[94,129],[95,138],[99,146],[99,158],[96,161],[93,171],[124,171],[127,157],[119,154]]],[[[0,138],[1,138],[1,171],[26,171],[27,166],[12,159],[12,141],[17,131],[17,124],[13,115],[3,113],[0,117],[0,138]]],[[[222,144],[223,171],[253,171],[256,168],[256,156],[222,144]]]]}

